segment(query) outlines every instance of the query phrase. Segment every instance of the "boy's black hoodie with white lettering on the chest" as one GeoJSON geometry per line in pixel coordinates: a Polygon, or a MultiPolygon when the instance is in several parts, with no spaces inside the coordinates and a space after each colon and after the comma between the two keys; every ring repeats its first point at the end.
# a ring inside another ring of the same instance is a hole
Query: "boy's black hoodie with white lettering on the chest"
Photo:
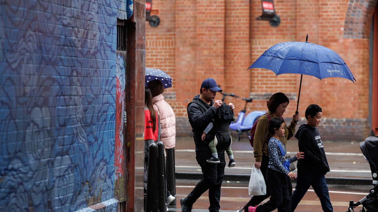
{"type": "Polygon", "coordinates": [[[299,152],[304,152],[304,158],[297,162],[298,171],[326,174],[330,171],[327,157],[318,129],[302,124],[295,134],[298,139],[299,152]]]}

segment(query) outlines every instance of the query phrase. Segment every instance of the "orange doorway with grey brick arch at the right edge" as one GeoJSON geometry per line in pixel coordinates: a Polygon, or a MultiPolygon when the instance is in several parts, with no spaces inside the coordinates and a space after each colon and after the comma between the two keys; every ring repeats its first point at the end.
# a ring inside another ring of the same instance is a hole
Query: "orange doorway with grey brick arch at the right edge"
{"type": "Polygon", "coordinates": [[[378,135],[378,0],[349,0],[345,15],[344,38],[372,39],[370,42],[371,74],[369,82],[369,123],[378,135]],[[373,23],[373,28],[372,28],[373,23]],[[373,32],[370,34],[371,29],[373,32]],[[370,37],[370,35],[372,37],[370,37]]]}

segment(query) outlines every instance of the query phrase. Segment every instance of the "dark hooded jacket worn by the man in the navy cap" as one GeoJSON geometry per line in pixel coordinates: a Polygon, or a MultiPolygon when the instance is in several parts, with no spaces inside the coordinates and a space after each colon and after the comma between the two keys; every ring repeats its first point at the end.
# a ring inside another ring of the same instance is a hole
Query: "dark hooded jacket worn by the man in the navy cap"
{"type": "Polygon", "coordinates": [[[188,104],[186,111],[188,113],[188,118],[190,125],[192,126],[193,131],[193,138],[195,143],[195,150],[210,150],[209,149],[209,142],[214,139],[214,134],[210,133],[206,135],[204,141],[201,140],[201,135],[203,131],[206,129],[208,124],[213,121],[215,114],[217,113],[217,109],[212,106],[214,104],[213,101],[210,104],[204,103],[200,99],[200,95],[196,95],[193,100],[188,104]],[[212,136],[212,139],[211,139],[212,136]],[[211,140],[210,140],[211,139],[211,140]]]}

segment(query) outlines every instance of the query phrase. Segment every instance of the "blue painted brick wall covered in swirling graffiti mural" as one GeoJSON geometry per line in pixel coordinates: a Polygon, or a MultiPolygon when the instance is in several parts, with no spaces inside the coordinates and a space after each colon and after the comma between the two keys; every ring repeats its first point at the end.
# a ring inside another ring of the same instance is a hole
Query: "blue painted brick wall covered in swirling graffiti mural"
{"type": "Polygon", "coordinates": [[[75,211],[114,197],[125,2],[0,2],[0,211],[75,211]]]}

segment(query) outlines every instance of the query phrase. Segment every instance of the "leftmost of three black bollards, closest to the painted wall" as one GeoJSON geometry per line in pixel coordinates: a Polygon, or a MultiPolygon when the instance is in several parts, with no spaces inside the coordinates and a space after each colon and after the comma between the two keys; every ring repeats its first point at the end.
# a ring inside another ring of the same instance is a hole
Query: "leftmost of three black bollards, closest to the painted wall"
{"type": "Polygon", "coordinates": [[[146,212],[158,211],[158,145],[150,144],[147,167],[146,212]]]}

